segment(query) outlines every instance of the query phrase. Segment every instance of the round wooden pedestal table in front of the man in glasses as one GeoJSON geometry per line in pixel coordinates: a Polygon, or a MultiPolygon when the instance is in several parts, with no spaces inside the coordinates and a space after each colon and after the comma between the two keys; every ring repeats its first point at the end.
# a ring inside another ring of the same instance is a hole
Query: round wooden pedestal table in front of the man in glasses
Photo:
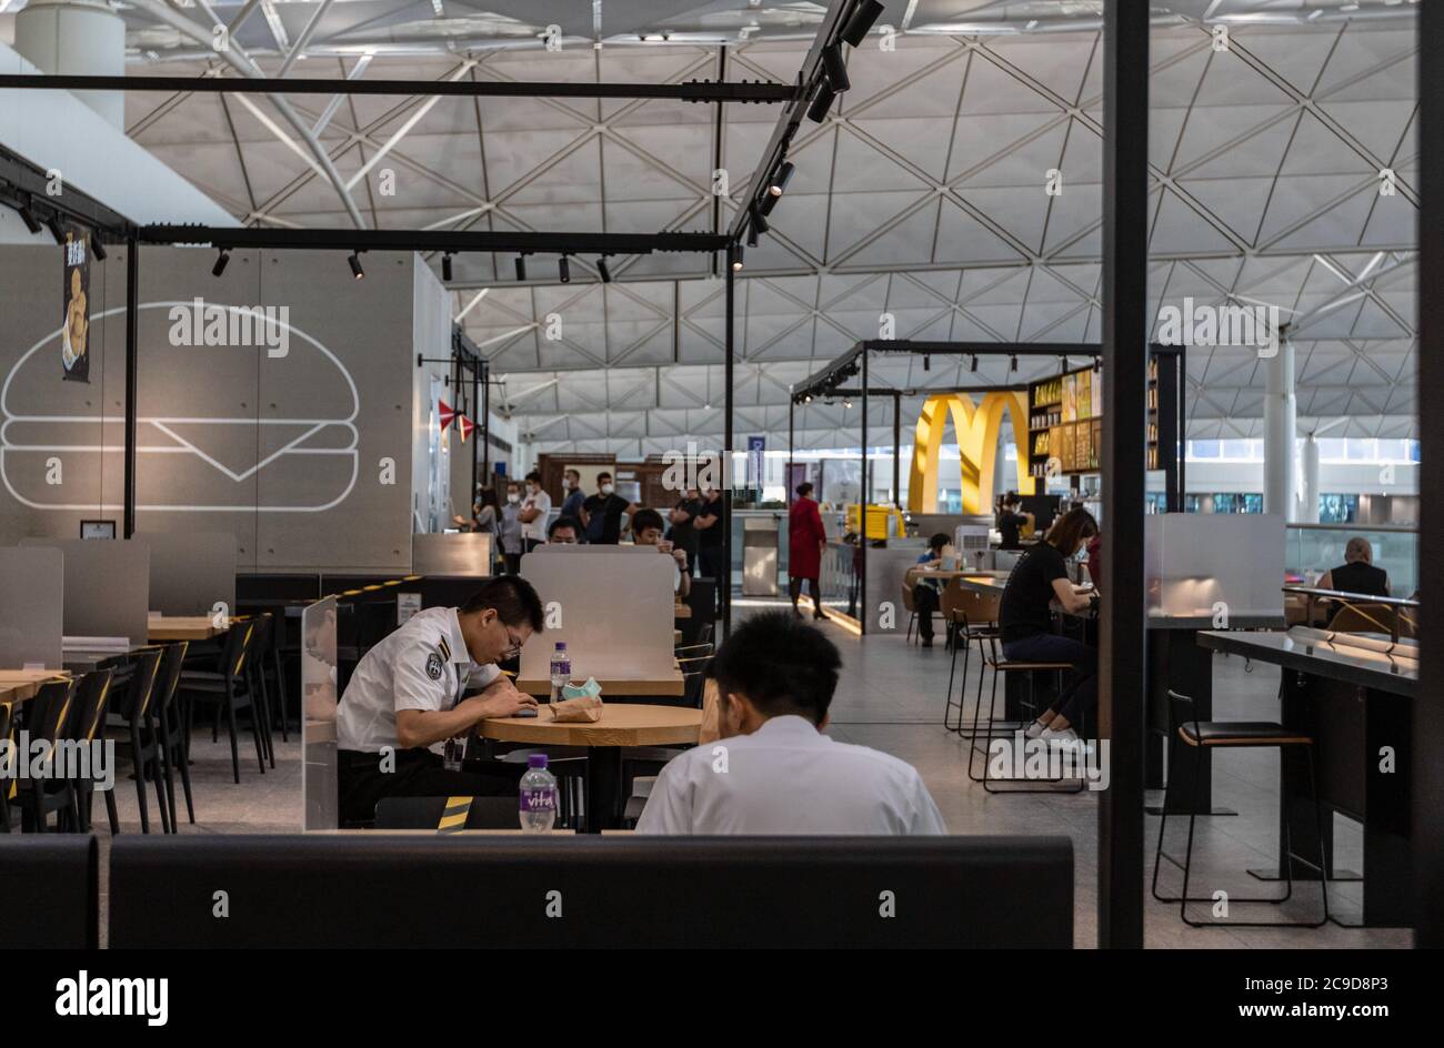
{"type": "Polygon", "coordinates": [[[595,723],[557,723],[542,703],[534,717],[488,717],[477,725],[479,736],[498,742],[586,746],[586,833],[615,830],[621,823],[622,749],[695,743],[700,730],[702,710],[641,703],[608,703],[595,723]]]}

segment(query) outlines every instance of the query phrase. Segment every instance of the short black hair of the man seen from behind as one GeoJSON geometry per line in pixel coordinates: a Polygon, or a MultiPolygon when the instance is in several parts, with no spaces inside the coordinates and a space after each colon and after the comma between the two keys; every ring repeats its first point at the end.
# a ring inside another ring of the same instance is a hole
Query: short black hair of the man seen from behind
{"type": "Polygon", "coordinates": [[[712,658],[723,694],[745,694],[768,717],[791,713],[814,725],[827,716],[839,670],[838,645],[816,626],[781,611],[744,621],[712,658]]]}

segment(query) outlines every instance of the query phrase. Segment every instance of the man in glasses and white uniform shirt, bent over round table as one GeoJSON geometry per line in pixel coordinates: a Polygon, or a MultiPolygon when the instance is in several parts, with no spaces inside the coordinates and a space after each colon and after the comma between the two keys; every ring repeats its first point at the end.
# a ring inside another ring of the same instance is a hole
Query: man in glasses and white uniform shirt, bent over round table
{"type": "Polygon", "coordinates": [[[536,709],[497,668],[533,632],[542,632],[542,601],[529,582],[504,575],[461,608],[412,616],[367,651],[336,712],[342,820],[373,818],[383,797],[501,792],[500,781],[448,769],[442,754],[487,717],[536,709]]]}

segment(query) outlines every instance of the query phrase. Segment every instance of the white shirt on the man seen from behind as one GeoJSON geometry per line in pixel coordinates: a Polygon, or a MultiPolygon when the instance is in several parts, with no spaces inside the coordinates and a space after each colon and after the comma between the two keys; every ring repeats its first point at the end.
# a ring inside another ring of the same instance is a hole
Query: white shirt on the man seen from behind
{"type": "Polygon", "coordinates": [[[913,765],[783,716],[669,762],[637,833],[852,836],[947,827],[913,765]]]}

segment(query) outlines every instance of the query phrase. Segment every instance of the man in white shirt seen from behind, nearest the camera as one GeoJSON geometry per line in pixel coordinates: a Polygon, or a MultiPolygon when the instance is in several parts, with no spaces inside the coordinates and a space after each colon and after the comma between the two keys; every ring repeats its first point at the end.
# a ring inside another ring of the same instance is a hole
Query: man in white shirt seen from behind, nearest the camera
{"type": "Polygon", "coordinates": [[[712,660],[723,738],[661,769],[637,833],[947,833],[910,764],[823,733],[840,668],[788,612],[734,629],[712,660]]]}

